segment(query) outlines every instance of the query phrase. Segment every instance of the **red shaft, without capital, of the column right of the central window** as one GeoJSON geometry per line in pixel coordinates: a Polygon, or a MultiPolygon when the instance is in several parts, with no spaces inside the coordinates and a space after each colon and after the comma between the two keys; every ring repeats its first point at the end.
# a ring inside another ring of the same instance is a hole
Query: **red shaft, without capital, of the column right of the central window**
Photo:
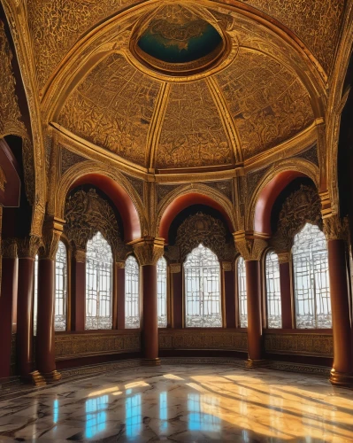
{"type": "Polygon", "coordinates": [[[260,262],[246,260],[246,291],[248,306],[248,366],[256,366],[263,358],[261,319],[260,262]]]}

